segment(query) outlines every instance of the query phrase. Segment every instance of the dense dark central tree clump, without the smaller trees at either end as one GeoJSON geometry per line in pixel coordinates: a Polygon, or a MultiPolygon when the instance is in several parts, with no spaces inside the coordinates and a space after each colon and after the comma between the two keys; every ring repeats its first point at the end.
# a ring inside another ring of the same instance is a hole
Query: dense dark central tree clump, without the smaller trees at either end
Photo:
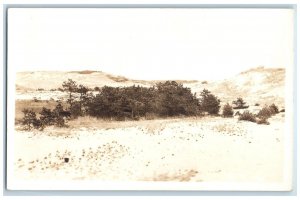
{"type": "Polygon", "coordinates": [[[196,95],[175,81],[158,83],[150,88],[104,86],[86,105],[87,113],[91,116],[117,120],[199,113],[196,95]]]}

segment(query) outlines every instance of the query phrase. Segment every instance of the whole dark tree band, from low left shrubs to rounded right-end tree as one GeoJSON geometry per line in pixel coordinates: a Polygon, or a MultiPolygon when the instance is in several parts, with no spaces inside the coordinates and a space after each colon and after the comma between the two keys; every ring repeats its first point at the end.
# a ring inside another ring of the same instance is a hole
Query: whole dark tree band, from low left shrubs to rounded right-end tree
{"type": "Polygon", "coordinates": [[[77,85],[72,79],[63,82],[58,90],[68,93],[67,108],[59,103],[54,110],[43,108],[39,119],[35,113],[24,112],[24,124],[33,127],[65,126],[65,119],[89,115],[114,120],[154,119],[155,117],[195,116],[203,112],[219,113],[220,100],[204,89],[200,98],[176,81],[157,83],[153,87],[95,87],[77,85]],[[96,91],[96,93],[95,93],[96,91]],[[29,119],[27,119],[29,118],[29,119]],[[37,124],[37,125],[34,125],[37,124]]]}

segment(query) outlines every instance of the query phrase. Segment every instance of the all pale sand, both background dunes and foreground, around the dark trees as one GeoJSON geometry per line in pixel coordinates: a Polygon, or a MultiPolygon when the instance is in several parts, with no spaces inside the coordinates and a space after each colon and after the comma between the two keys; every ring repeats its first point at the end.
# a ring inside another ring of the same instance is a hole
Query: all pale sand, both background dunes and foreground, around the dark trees
{"type": "MultiPolygon", "coordinates": [[[[32,101],[33,108],[65,98],[63,92],[50,89],[60,87],[67,78],[91,88],[155,84],[103,72],[18,73],[16,119],[34,97],[45,101],[32,101]]],[[[264,104],[285,107],[284,79],[284,69],[256,68],[222,81],[183,84],[198,96],[204,88],[212,91],[222,105],[243,97],[249,110],[257,113],[264,104]]],[[[16,125],[14,140],[9,141],[14,149],[14,178],[281,183],[287,134],[284,113],[268,121],[270,125],[238,121],[237,117],[124,122],[83,117],[70,121],[68,128],[47,127],[44,131],[23,131],[16,125]]]]}

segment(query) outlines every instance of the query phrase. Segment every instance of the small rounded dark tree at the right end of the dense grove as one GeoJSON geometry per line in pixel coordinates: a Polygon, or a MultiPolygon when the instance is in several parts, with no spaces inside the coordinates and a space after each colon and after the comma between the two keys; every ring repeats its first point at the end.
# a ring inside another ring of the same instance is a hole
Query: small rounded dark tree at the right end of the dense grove
{"type": "Polygon", "coordinates": [[[218,114],[220,110],[220,100],[210,91],[204,89],[200,94],[200,109],[209,114],[218,114]]]}

